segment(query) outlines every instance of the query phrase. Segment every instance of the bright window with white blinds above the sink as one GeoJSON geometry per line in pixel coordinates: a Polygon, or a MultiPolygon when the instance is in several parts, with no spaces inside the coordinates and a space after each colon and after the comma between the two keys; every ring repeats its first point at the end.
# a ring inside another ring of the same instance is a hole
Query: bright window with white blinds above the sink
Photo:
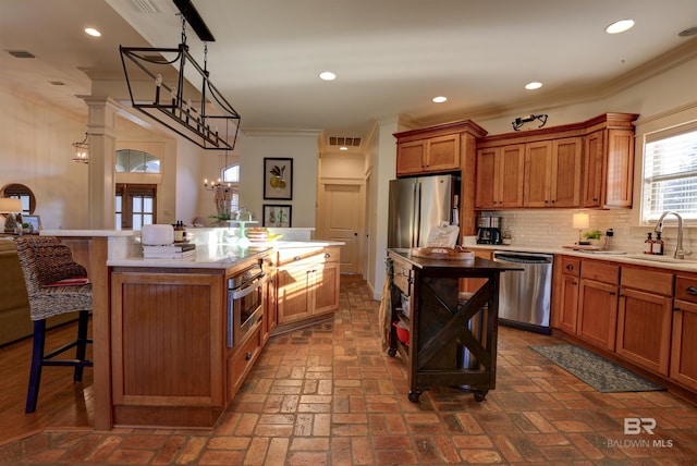
{"type": "Polygon", "coordinates": [[[643,222],[668,210],[697,220],[697,124],[649,134],[644,143],[643,222]]]}

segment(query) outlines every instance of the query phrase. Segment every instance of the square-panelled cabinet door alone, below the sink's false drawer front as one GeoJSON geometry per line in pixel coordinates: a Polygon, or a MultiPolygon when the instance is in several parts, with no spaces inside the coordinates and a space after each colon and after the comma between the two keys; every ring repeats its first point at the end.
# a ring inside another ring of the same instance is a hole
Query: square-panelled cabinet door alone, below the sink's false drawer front
{"type": "Polygon", "coordinates": [[[617,355],[668,376],[672,298],[622,287],[617,317],[617,355]]]}

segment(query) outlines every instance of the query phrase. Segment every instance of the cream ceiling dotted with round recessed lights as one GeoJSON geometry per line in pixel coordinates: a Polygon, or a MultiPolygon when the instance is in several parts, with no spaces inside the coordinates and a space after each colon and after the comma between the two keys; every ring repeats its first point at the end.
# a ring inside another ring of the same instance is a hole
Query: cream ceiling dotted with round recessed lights
{"type": "MultiPolygon", "coordinates": [[[[697,53],[697,37],[678,36],[697,26],[695,0],[193,4],[216,38],[208,42],[211,82],[242,115],[245,132],[363,137],[376,120],[398,114],[424,124],[477,114],[513,119],[542,106],[602,96],[629,76],[697,53]],[[634,28],[604,33],[625,17],[635,20],[634,28]],[[326,70],[338,78],[320,81],[326,70]],[[530,81],[542,88],[525,90],[530,81]],[[448,101],[431,102],[436,96],[448,101]]],[[[125,83],[119,45],[176,47],[176,12],[171,0],[2,0],[0,82],[86,115],[76,96],[90,94],[88,76],[125,83]],[[86,36],[87,26],[102,36],[86,36]]],[[[203,42],[191,28],[186,37],[203,63],[203,42]]]]}

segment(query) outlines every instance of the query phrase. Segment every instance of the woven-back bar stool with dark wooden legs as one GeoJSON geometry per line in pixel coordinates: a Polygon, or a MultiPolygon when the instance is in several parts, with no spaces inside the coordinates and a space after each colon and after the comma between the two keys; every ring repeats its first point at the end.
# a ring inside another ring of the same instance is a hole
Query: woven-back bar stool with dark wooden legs
{"type": "Polygon", "coordinates": [[[83,380],[83,368],[93,367],[86,359],[87,324],[91,310],[91,283],[87,271],[73,260],[68,246],[51,236],[20,236],[15,241],[20,266],[24,274],[34,321],[34,348],[25,413],[34,413],[39,395],[44,366],[71,366],[73,380],[83,380]],[[45,354],[46,319],[68,312],[78,312],[77,340],[45,354]],[[75,359],[54,359],[75,347],[75,359]]]}

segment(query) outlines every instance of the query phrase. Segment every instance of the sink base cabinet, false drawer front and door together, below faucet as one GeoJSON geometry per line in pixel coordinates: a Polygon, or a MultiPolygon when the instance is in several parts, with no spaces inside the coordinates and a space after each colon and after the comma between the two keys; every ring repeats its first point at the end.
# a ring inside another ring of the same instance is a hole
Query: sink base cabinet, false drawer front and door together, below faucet
{"type": "Polygon", "coordinates": [[[668,376],[673,274],[622,267],[615,353],[668,376]]]}

